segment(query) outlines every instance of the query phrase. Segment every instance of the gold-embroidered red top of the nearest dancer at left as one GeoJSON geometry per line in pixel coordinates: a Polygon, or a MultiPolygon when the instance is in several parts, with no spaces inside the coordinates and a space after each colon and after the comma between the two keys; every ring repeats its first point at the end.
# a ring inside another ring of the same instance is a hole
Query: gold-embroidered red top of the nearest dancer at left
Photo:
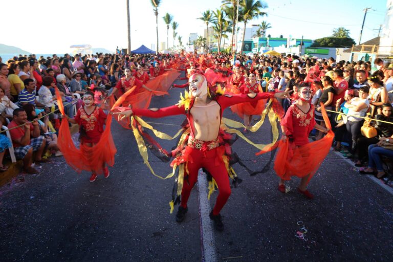
{"type": "Polygon", "coordinates": [[[81,136],[81,143],[95,143],[100,141],[101,135],[104,132],[104,123],[106,115],[100,107],[94,108],[92,114],[88,115],[84,110],[84,106],[78,109],[75,116],[75,121],[80,127],[84,128],[85,136],[81,136]]]}

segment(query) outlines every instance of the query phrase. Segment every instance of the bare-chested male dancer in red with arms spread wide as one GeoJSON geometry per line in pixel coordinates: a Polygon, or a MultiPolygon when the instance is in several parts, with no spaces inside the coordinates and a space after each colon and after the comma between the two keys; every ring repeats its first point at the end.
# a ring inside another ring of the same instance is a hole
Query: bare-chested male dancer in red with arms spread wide
{"type": "Polygon", "coordinates": [[[219,188],[219,195],[213,210],[210,212],[210,219],[214,221],[216,230],[224,230],[221,221],[220,211],[227,202],[231,189],[225,163],[222,159],[225,148],[220,145],[218,136],[220,131],[221,119],[224,109],[228,106],[242,103],[257,101],[267,98],[283,98],[287,93],[259,93],[249,95],[224,95],[212,99],[208,92],[208,84],[205,76],[194,74],[189,79],[189,91],[191,98],[189,104],[178,104],[164,108],[150,108],[127,110],[115,113],[130,117],[132,114],[147,117],[165,117],[171,115],[184,114],[190,125],[190,136],[183,158],[187,161],[188,174],[185,175],[183,189],[181,193],[181,205],[176,214],[176,221],[182,222],[188,211],[187,201],[191,189],[197,182],[198,170],[204,167],[212,174],[219,188]]]}

